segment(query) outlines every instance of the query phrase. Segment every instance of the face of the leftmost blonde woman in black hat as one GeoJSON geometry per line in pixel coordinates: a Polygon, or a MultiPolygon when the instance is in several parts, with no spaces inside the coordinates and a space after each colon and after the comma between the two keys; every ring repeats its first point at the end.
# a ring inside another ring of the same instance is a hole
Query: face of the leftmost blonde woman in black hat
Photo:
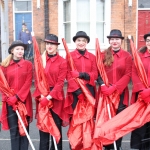
{"type": "Polygon", "coordinates": [[[13,54],[14,60],[20,60],[21,58],[23,58],[24,55],[24,47],[16,46],[11,50],[11,53],[13,54]]]}

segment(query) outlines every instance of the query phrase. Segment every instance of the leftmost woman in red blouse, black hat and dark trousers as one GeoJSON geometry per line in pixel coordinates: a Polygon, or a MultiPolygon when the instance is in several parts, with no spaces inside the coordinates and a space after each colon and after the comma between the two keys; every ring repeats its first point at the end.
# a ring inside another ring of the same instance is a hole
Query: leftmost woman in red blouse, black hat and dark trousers
{"type": "MultiPolygon", "coordinates": [[[[3,129],[10,130],[11,150],[28,150],[28,139],[21,136],[18,129],[18,117],[15,112],[15,104],[20,101],[25,104],[27,110],[27,121],[32,121],[32,97],[30,87],[32,84],[32,63],[23,59],[26,45],[20,41],[14,41],[8,49],[9,56],[2,61],[1,68],[9,87],[14,90],[15,95],[7,97],[2,93],[2,116],[6,112],[7,120],[1,121],[3,129]],[[6,104],[6,105],[5,105],[6,104]],[[7,121],[7,122],[5,122],[7,121]]],[[[29,124],[27,126],[29,132],[29,124]]]]}

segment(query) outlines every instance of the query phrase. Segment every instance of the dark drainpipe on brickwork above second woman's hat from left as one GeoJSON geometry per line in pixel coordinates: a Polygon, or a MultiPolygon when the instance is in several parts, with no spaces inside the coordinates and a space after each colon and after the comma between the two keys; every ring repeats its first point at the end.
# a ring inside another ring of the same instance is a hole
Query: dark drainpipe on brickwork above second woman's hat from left
{"type": "Polygon", "coordinates": [[[45,12],[45,37],[49,33],[49,0],[44,0],[45,12]]]}

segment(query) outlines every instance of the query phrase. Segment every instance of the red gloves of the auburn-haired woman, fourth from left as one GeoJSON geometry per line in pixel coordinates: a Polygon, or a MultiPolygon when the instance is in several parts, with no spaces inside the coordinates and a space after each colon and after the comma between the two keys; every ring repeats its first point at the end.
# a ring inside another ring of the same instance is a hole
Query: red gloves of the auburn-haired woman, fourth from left
{"type": "Polygon", "coordinates": [[[111,95],[115,90],[116,90],[116,85],[110,87],[107,87],[106,85],[101,86],[101,92],[106,96],[111,95]]]}

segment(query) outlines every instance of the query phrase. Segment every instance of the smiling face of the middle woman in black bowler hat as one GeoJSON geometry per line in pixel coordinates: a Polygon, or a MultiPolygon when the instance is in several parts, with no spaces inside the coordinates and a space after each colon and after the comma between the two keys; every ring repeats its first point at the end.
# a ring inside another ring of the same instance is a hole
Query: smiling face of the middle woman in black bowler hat
{"type": "Polygon", "coordinates": [[[87,45],[87,39],[86,38],[77,38],[76,41],[75,41],[75,44],[76,44],[76,48],[78,50],[82,50],[84,51],[86,49],[86,45],[87,45]]]}

